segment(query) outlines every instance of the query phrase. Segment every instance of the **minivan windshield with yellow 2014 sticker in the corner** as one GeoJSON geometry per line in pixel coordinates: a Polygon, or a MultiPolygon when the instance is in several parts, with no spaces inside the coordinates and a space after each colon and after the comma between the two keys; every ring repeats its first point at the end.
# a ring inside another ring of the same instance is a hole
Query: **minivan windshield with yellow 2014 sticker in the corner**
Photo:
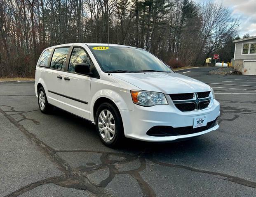
{"type": "Polygon", "coordinates": [[[146,50],[122,46],[89,46],[103,72],[173,72],[146,50]]]}

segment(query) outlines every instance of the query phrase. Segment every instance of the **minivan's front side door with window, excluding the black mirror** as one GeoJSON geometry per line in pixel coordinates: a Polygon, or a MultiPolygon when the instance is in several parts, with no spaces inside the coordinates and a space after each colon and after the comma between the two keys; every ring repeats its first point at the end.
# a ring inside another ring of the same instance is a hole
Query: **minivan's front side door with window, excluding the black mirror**
{"type": "Polygon", "coordinates": [[[69,105],[66,105],[68,112],[90,119],[90,86],[91,77],[75,73],[75,64],[87,63],[92,65],[92,61],[82,47],[73,47],[68,62],[68,69],[63,77],[63,96],[69,105]]]}

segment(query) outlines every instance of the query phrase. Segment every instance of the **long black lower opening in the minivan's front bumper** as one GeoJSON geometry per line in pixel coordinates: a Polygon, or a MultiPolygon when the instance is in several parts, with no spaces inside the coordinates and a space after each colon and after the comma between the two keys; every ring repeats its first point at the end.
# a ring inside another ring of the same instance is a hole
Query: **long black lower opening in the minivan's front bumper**
{"type": "MultiPolygon", "coordinates": [[[[218,118],[218,117],[217,117],[218,118]]],[[[176,135],[188,135],[192,133],[199,133],[210,129],[217,124],[217,118],[214,121],[210,121],[206,126],[193,128],[193,126],[177,127],[172,126],[153,126],[147,131],[147,135],[165,137],[165,136],[176,136],[176,135]]]]}

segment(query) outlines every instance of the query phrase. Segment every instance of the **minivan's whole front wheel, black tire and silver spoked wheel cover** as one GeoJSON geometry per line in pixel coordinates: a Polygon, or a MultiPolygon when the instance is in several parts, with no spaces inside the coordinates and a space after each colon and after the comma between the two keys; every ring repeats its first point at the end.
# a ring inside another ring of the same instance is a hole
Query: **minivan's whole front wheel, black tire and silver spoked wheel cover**
{"type": "Polygon", "coordinates": [[[96,130],[107,147],[117,147],[124,139],[124,127],[120,112],[111,103],[102,103],[95,115],[96,130]],[[114,131],[114,133],[113,133],[114,131]]]}

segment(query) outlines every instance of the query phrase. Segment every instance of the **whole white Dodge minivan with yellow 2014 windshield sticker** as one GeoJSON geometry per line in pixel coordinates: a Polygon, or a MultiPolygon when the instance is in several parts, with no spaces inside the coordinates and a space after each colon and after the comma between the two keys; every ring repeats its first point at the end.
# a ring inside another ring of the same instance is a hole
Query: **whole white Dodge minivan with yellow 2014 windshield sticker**
{"type": "Polygon", "coordinates": [[[115,44],[46,48],[35,94],[43,113],[56,106],[92,121],[109,147],[124,137],[186,140],[216,130],[220,115],[209,85],[175,73],[144,49],[115,44]]]}

